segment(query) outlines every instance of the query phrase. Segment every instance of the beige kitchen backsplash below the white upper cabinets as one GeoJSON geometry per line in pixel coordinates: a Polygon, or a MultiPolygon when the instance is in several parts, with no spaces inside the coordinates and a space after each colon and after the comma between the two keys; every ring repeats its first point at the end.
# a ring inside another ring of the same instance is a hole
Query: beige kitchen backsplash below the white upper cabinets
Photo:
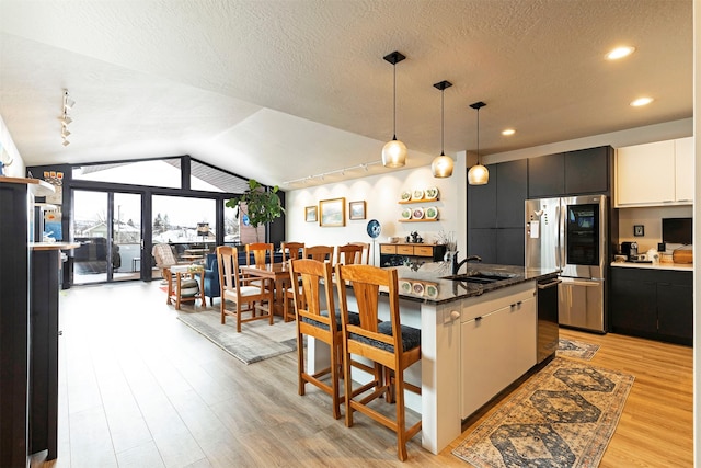
{"type": "Polygon", "coordinates": [[[662,218],[691,218],[692,215],[691,205],[620,208],[618,210],[619,242],[637,242],[639,252],[657,249],[657,243],[662,242],[662,218]],[[635,226],[643,226],[643,236],[634,235],[635,226]]]}

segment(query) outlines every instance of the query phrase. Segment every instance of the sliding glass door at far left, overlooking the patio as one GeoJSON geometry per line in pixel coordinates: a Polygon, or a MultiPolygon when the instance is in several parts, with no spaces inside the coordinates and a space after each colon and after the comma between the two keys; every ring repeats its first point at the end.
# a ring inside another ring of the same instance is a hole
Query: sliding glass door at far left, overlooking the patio
{"type": "Polygon", "coordinates": [[[141,195],[73,191],[73,284],[141,278],[141,195]]]}

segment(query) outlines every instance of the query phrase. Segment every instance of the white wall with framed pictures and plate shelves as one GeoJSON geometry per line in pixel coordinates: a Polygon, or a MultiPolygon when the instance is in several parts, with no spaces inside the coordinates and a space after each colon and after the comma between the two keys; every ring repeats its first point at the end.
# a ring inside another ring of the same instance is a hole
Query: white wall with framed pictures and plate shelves
{"type": "MultiPolygon", "coordinates": [[[[379,155],[378,155],[379,156],[379,155]]],[[[287,240],[304,242],[307,246],[326,244],[340,246],[347,242],[371,242],[367,233],[367,224],[370,219],[377,219],[382,233],[377,243],[387,242],[389,236],[404,238],[412,231],[417,231],[426,242],[434,242],[440,231],[459,232],[464,235],[464,170],[459,168],[463,163],[456,164],[452,178],[435,179],[429,167],[411,170],[397,170],[387,174],[374,175],[364,179],[349,180],[342,183],[333,183],[309,189],[290,191],[286,197],[287,210],[287,240]],[[438,187],[439,201],[435,203],[416,203],[400,205],[400,196],[403,191],[414,189],[438,187]],[[319,205],[322,199],[345,197],[346,225],[345,227],[321,227],[319,222],[304,221],[304,207],[319,205]],[[363,220],[348,219],[348,202],[366,201],[367,218],[363,220]],[[460,205],[462,203],[462,205],[460,205]],[[400,222],[402,208],[410,206],[424,207],[435,205],[440,213],[436,222],[400,222]],[[461,214],[458,216],[458,214],[461,214]]],[[[463,243],[464,244],[464,243],[463,243]]],[[[376,246],[375,264],[379,264],[379,246],[376,246]]],[[[372,263],[372,261],[370,262],[372,263]]]]}

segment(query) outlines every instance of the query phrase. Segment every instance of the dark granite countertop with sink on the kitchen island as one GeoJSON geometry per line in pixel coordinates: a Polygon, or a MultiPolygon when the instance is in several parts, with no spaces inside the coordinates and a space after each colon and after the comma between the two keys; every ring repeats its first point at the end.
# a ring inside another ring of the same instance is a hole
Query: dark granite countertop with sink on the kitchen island
{"type": "Polygon", "coordinates": [[[463,265],[458,273],[484,272],[504,276],[504,279],[484,285],[447,279],[445,277],[450,276],[451,271],[450,264],[446,262],[424,263],[416,270],[410,266],[397,266],[397,272],[401,298],[434,305],[480,296],[491,290],[558,275],[558,271],[554,269],[525,269],[524,266],[473,262],[470,262],[467,267],[463,265]]]}

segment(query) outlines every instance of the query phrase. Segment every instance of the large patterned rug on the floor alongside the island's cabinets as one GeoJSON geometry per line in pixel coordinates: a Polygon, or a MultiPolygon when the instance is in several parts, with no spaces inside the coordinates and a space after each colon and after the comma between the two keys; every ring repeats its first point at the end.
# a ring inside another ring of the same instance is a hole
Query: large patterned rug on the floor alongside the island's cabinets
{"type": "Polygon", "coordinates": [[[555,357],[452,454],[478,468],[596,467],[634,377],[555,357]]]}

